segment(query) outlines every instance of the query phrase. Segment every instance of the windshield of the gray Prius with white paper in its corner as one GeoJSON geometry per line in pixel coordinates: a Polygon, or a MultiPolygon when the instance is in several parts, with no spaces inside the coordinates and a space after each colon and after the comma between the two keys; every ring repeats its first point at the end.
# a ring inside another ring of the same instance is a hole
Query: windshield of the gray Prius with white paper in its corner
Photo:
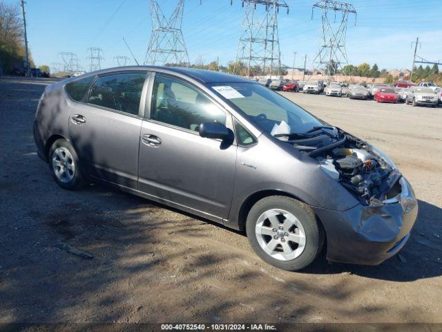
{"type": "Polygon", "coordinates": [[[285,128],[284,133],[304,133],[313,127],[324,125],[298,105],[265,86],[240,82],[228,86],[214,84],[211,87],[268,133],[272,133],[273,128],[280,125],[285,128]]]}

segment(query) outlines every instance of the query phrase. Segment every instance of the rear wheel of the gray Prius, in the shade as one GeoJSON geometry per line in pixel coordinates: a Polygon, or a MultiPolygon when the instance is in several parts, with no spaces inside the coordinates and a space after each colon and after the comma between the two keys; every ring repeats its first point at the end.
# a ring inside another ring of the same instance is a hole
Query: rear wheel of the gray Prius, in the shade
{"type": "Polygon", "coordinates": [[[50,172],[60,187],[77,190],[85,184],[77,152],[68,140],[56,140],[48,157],[50,172]]]}

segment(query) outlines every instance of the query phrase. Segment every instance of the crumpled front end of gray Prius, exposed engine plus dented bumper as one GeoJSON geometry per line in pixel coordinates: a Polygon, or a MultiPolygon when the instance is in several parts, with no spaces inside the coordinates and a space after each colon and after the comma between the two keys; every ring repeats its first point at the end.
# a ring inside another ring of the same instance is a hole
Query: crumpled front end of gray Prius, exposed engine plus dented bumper
{"type": "Polygon", "coordinates": [[[325,227],[327,259],[380,264],[410,237],[418,212],[416,196],[392,160],[372,145],[340,129],[325,136],[289,142],[317,160],[320,169],[360,203],[345,211],[312,207],[325,227]]]}

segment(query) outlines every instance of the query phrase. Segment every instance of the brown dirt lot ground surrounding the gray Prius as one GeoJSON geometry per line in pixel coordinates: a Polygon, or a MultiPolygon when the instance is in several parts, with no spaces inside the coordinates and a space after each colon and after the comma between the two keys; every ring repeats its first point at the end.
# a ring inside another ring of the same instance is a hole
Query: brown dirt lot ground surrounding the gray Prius
{"type": "Polygon", "coordinates": [[[0,323],[442,322],[442,108],[285,94],[390,154],[420,209],[401,260],[289,273],[214,223],[98,185],[61,190],[32,138],[50,82],[0,78],[0,323]]]}

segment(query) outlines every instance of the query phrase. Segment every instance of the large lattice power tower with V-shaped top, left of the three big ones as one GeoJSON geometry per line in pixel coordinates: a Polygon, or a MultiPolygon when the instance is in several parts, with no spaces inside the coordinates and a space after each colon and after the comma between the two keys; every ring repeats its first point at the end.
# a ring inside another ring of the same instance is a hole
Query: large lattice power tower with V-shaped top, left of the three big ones
{"type": "Polygon", "coordinates": [[[150,0],[152,33],[144,64],[177,64],[189,66],[186,44],[182,35],[184,0],[179,0],[169,19],[162,12],[158,1],[150,0]]]}

